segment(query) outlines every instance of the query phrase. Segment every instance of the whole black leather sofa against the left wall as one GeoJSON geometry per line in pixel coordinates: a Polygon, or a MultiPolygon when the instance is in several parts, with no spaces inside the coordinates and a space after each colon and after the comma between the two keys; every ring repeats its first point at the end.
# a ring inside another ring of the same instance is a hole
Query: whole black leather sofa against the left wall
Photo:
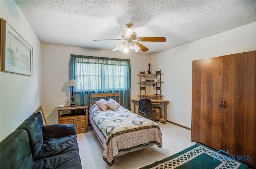
{"type": "Polygon", "coordinates": [[[0,143],[1,169],[82,169],[74,124],[43,125],[28,117],[0,143]]]}

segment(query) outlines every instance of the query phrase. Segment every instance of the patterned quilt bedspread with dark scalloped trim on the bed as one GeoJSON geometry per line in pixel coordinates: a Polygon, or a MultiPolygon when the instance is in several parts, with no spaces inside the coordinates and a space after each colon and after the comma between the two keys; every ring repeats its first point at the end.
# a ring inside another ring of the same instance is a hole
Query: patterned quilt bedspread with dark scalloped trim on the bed
{"type": "Polygon", "coordinates": [[[102,111],[93,105],[89,119],[103,146],[103,159],[111,166],[119,155],[145,146],[162,147],[162,133],[157,123],[120,106],[116,111],[102,111]]]}

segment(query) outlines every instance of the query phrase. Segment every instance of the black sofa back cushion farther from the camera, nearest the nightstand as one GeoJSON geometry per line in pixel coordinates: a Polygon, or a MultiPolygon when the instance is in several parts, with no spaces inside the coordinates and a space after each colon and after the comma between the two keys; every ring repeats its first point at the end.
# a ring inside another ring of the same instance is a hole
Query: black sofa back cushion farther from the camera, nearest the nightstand
{"type": "Polygon", "coordinates": [[[34,160],[37,159],[38,153],[41,150],[43,143],[42,134],[43,119],[40,112],[34,113],[28,117],[18,128],[28,132],[31,152],[34,160]]]}

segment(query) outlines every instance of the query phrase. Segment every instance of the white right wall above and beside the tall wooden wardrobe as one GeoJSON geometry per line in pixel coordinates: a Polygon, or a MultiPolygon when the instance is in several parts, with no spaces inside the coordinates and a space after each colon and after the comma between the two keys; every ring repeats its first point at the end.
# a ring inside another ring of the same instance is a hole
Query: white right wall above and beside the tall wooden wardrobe
{"type": "Polygon", "coordinates": [[[169,121],[191,127],[192,60],[256,50],[256,22],[154,54],[151,62],[162,70],[162,93],[169,121]]]}

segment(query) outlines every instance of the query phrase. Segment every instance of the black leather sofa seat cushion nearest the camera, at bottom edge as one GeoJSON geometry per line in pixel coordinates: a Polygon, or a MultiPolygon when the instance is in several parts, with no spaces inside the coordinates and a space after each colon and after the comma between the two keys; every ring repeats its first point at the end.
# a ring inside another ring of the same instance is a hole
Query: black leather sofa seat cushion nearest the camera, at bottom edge
{"type": "Polygon", "coordinates": [[[70,151],[54,157],[34,161],[34,169],[82,169],[77,151],[70,151]]]}

